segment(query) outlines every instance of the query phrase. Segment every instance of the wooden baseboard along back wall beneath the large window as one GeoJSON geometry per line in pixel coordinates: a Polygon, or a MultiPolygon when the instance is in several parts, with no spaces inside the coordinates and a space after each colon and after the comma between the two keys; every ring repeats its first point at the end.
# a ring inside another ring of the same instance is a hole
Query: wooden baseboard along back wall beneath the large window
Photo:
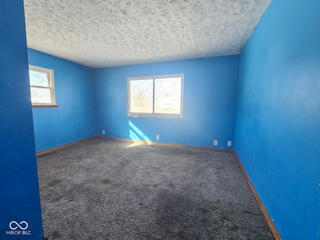
{"type": "Polygon", "coordinates": [[[173,144],[173,143],[162,143],[162,142],[154,142],[154,141],[132,140],[132,139],[126,139],[126,138],[115,138],[115,137],[106,137],[106,136],[97,136],[97,137],[98,138],[103,138],[103,139],[109,139],[109,140],[128,141],[128,142],[142,143],[142,144],[148,144],[148,145],[176,146],[176,147],[192,148],[192,149],[199,149],[199,150],[209,150],[209,151],[219,151],[219,152],[228,152],[228,153],[232,153],[233,152],[233,150],[202,147],[202,146],[190,146],[190,145],[181,145],[181,144],[173,144]]]}

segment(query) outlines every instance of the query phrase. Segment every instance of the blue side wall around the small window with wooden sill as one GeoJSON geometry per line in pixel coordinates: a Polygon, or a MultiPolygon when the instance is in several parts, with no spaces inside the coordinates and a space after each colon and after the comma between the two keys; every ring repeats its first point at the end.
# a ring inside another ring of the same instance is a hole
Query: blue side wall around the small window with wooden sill
{"type": "Polygon", "coordinates": [[[58,107],[33,107],[36,151],[95,135],[93,69],[28,49],[29,64],[53,69],[58,107]]]}

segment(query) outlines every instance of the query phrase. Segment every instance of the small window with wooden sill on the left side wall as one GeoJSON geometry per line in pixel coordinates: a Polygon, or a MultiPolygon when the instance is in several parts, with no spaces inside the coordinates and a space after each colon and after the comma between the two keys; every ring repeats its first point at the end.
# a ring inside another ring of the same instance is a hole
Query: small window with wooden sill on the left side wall
{"type": "Polygon", "coordinates": [[[32,105],[55,105],[53,70],[29,65],[32,105]]]}

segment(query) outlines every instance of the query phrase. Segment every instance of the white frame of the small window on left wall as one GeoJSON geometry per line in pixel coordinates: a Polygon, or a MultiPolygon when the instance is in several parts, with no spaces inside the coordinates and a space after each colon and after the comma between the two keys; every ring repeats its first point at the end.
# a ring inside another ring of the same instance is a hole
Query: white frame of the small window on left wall
{"type": "Polygon", "coordinates": [[[30,65],[30,64],[29,64],[29,70],[46,73],[49,86],[35,86],[35,85],[31,85],[30,84],[30,89],[31,89],[31,87],[49,89],[50,90],[50,99],[51,99],[51,102],[32,102],[32,100],[31,100],[31,104],[34,105],[34,106],[37,106],[37,105],[44,105],[44,106],[45,105],[55,105],[53,70],[52,69],[48,69],[48,68],[44,68],[44,67],[40,67],[40,66],[30,65]]]}

